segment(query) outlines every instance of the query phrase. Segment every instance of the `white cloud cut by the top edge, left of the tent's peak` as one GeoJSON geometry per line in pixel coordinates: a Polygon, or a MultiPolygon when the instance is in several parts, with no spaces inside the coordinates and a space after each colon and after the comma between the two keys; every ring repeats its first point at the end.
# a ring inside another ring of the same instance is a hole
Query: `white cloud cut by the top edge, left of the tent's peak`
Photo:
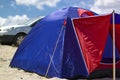
{"type": "Polygon", "coordinates": [[[55,7],[61,0],[15,0],[17,5],[35,6],[43,9],[44,6],[55,7]]]}

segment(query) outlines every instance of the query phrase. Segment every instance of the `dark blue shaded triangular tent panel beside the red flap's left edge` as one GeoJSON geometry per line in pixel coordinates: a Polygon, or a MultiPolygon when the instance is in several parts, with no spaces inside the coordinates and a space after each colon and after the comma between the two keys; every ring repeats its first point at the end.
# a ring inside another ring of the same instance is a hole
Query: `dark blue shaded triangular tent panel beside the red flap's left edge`
{"type": "Polygon", "coordinates": [[[71,19],[67,19],[67,27],[64,41],[63,55],[63,77],[71,77],[74,75],[88,75],[85,63],[83,61],[81,51],[72,27],[71,19]],[[74,73],[74,74],[73,74],[74,73]]]}

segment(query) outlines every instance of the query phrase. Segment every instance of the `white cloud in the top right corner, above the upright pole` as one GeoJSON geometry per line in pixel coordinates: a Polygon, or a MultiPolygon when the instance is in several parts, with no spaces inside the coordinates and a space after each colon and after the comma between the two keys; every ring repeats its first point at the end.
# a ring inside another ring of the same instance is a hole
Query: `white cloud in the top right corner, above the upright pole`
{"type": "Polygon", "coordinates": [[[100,13],[100,14],[104,14],[104,13],[110,13],[113,10],[115,10],[115,12],[120,13],[120,0],[94,0],[95,3],[94,5],[91,7],[90,10],[100,13]]]}

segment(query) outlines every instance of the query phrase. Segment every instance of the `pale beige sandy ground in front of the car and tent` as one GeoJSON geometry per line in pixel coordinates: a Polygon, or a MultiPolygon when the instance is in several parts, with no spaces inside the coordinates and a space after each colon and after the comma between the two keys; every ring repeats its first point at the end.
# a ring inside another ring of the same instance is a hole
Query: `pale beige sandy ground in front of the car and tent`
{"type": "MultiPolygon", "coordinates": [[[[17,68],[9,67],[10,61],[17,50],[17,47],[0,44],[0,80],[67,80],[59,78],[50,78],[39,76],[35,73],[25,72],[17,68]]],[[[82,79],[79,79],[82,80],[82,79]]],[[[94,80],[112,80],[110,78],[94,80]]],[[[120,79],[116,79],[120,80],[120,79]]]]}

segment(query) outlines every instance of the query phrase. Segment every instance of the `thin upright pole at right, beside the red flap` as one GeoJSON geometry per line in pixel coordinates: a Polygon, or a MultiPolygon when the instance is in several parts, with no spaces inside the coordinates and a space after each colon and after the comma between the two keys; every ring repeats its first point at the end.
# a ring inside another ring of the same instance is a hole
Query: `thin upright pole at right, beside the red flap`
{"type": "Polygon", "coordinates": [[[115,14],[113,11],[113,80],[116,77],[116,67],[115,67],[115,14]]]}

